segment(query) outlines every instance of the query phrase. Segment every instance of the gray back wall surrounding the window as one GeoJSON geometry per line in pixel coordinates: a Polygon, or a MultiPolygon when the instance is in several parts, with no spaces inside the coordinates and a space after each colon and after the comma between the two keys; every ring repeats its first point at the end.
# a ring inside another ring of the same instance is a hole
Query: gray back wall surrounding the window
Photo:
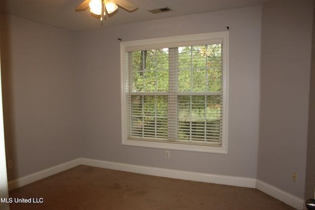
{"type": "Polygon", "coordinates": [[[255,178],[258,151],[261,7],[182,16],[80,32],[82,157],[200,173],[255,178]],[[228,154],[121,144],[120,42],[224,31],[229,26],[228,154]]]}

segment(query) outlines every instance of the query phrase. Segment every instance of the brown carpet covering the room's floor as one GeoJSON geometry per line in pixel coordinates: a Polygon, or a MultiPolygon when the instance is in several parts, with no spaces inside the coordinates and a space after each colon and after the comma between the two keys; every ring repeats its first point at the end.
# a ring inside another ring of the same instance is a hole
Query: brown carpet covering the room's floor
{"type": "Polygon", "coordinates": [[[294,210],[252,188],[77,166],[9,192],[10,210],[294,210]]]}

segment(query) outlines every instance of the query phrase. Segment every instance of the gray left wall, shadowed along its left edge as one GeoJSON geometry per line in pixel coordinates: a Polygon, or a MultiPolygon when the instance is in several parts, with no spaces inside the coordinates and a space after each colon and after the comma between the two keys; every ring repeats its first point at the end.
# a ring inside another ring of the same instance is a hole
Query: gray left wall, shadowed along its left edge
{"type": "Polygon", "coordinates": [[[79,156],[75,33],[0,16],[8,180],[79,156]]]}

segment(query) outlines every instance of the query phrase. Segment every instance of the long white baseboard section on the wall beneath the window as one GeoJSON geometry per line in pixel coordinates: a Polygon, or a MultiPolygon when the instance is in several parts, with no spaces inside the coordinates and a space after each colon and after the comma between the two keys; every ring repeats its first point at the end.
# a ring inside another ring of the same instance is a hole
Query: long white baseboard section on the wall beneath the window
{"type": "Polygon", "coordinates": [[[94,160],[88,158],[81,158],[81,164],[87,166],[94,166],[99,168],[107,168],[119,171],[127,171],[138,174],[167,177],[181,180],[202,181],[216,184],[226,184],[232,186],[242,186],[255,188],[256,180],[251,178],[230,177],[213,174],[202,174],[189,171],[179,171],[172,169],[154,168],[148,166],[131,165],[124,163],[116,163],[102,160],[94,160]]]}

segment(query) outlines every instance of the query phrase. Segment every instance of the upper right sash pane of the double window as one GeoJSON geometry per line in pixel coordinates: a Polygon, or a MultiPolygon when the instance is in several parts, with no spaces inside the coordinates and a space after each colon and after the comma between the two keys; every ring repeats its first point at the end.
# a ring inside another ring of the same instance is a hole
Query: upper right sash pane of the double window
{"type": "Polygon", "coordinates": [[[222,91],[221,44],[180,47],[178,91],[222,91]]]}

